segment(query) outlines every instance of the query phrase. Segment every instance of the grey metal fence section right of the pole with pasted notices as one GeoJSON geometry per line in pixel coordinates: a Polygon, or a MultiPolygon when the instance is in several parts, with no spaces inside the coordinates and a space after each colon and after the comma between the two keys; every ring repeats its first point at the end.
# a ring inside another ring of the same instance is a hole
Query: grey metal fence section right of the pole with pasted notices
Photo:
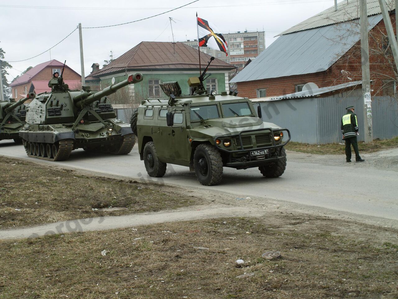
{"type": "Polygon", "coordinates": [[[372,101],[373,138],[398,136],[398,102],[394,98],[376,97],[372,101]]]}

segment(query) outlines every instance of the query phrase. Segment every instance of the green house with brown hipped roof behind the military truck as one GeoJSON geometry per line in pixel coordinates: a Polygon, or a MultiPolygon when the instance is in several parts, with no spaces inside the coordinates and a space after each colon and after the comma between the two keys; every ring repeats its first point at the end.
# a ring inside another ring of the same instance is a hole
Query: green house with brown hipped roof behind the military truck
{"type": "MultiPolygon", "coordinates": [[[[200,59],[203,71],[210,56],[200,52],[200,59]]],[[[228,72],[233,69],[233,65],[216,58],[207,71],[210,75],[206,79],[207,90],[227,91],[228,72]]],[[[199,53],[184,43],[142,41],[103,69],[94,63],[86,85],[104,89],[112,84],[113,78],[118,83],[136,72],[142,73],[143,81],[126,87],[123,94],[113,99],[115,104],[125,104],[126,98],[137,104],[145,98],[164,98],[159,84],[170,81],[178,81],[182,93],[189,94],[188,78],[199,76],[199,53]]]]}

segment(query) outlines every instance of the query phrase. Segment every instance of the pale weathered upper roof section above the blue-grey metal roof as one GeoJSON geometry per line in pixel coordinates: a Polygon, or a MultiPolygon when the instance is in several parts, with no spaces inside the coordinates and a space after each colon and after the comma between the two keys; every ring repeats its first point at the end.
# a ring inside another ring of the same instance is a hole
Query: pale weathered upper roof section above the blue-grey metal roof
{"type": "MultiPolygon", "coordinates": [[[[395,0],[386,0],[386,3],[390,10],[395,9],[395,0]]],[[[331,24],[347,22],[359,18],[359,0],[351,0],[348,1],[348,3],[344,0],[338,3],[337,7],[338,10],[336,12],[334,11],[334,6],[332,6],[278,35],[328,26],[331,24]]],[[[378,0],[367,0],[367,11],[368,16],[380,14],[381,11],[378,0]]]]}

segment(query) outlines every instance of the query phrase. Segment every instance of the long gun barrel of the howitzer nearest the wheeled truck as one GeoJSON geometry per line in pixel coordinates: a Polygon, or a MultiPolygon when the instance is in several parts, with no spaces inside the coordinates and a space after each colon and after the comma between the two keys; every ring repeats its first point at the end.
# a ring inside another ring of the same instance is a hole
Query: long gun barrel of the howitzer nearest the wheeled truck
{"type": "Polygon", "coordinates": [[[113,94],[118,89],[121,89],[129,84],[138,83],[140,81],[142,81],[142,74],[135,73],[133,75],[130,75],[125,81],[111,85],[99,92],[94,93],[94,94],[83,92],[83,93],[75,96],[73,98],[73,101],[76,106],[78,106],[79,108],[83,108],[83,106],[89,105],[89,104],[95,102],[96,100],[102,98],[103,96],[108,96],[109,94],[113,94]]]}

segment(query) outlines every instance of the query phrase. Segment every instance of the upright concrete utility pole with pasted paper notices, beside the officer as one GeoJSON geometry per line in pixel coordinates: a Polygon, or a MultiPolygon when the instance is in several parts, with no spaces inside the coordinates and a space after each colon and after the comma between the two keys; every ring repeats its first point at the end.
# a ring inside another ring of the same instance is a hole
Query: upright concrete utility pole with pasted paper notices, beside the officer
{"type": "MultiPolygon", "coordinates": [[[[359,22],[361,26],[361,62],[363,93],[363,133],[365,143],[373,141],[371,78],[369,70],[369,40],[367,0],[359,0],[359,22]]],[[[381,1],[381,0],[380,0],[381,1]]]]}

